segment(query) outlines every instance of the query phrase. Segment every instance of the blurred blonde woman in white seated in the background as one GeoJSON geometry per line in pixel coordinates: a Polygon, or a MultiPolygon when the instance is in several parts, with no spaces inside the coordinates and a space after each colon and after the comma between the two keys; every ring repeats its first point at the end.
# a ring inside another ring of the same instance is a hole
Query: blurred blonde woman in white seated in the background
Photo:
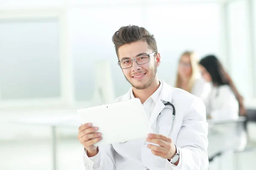
{"type": "Polygon", "coordinates": [[[203,101],[207,99],[210,84],[201,77],[198,59],[194,52],[185,51],[180,56],[175,87],[188,91],[200,97],[203,101]]]}

